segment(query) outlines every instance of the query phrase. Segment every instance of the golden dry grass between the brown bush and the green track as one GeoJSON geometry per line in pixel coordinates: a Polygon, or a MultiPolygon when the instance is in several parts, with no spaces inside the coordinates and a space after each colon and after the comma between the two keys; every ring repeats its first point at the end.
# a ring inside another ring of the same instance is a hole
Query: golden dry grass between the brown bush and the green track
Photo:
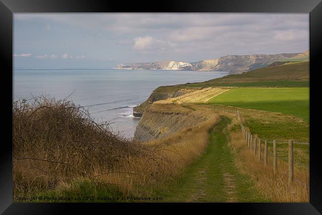
{"type": "MultiPolygon", "coordinates": [[[[190,111],[194,113],[194,111],[179,105],[158,105],[158,107],[160,109],[153,105],[149,109],[152,108],[154,111],[159,109],[160,112],[190,111]]],[[[133,157],[129,159],[127,166],[123,166],[123,171],[139,174],[115,173],[109,175],[109,177],[102,176],[100,179],[108,183],[122,183],[123,193],[130,191],[131,194],[135,195],[151,194],[153,190],[167,186],[172,179],[176,179],[187,165],[200,157],[205,151],[209,138],[208,130],[218,122],[219,116],[208,111],[204,111],[202,115],[207,116],[208,119],[185,127],[165,138],[143,143],[156,153],[154,154],[155,157],[148,160],[133,157]]]]}

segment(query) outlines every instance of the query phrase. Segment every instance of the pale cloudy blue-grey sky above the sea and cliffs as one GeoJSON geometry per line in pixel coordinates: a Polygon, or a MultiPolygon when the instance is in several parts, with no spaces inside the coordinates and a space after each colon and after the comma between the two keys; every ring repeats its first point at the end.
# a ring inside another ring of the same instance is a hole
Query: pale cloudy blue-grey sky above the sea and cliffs
{"type": "Polygon", "coordinates": [[[309,49],[305,13],[14,13],[14,67],[112,68],[309,49]]]}

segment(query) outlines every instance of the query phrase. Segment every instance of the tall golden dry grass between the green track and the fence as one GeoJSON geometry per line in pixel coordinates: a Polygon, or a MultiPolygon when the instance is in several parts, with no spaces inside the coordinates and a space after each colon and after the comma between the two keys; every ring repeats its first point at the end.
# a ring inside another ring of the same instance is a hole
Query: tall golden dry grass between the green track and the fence
{"type": "MultiPolygon", "coordinates": [[[[250,150],[241,134],[239,122],[234,117],[230,128],[229,145],[236,154],[236,165],[242,173],[251,176],[258,190],[273,202],[309,202],[309,169],[294,165],[294,182],[288,184],[288,164],[278,160],[278,172],[274,174],[272,157],[268,156],[268,165],[258,160],[258,154],[250,150]]],[[[264,147],[262,148],[264,152],[264,147]]]]}

